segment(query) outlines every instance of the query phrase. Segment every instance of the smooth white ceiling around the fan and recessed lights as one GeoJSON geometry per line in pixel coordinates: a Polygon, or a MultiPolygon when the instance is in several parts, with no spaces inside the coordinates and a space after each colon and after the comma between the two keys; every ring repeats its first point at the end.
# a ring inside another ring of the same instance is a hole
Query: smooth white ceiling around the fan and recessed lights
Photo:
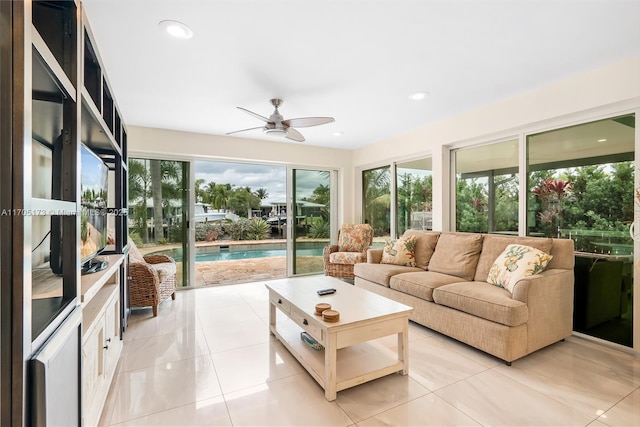
{"type": "Polygon", "coordinates": [[[362,147],[640,55],[638,0],[83,3],[127,125],[223,135],[262,124],[236,106],[269,116],[275,97],[285,118],[335,117],[292,144],[362,147]]]}

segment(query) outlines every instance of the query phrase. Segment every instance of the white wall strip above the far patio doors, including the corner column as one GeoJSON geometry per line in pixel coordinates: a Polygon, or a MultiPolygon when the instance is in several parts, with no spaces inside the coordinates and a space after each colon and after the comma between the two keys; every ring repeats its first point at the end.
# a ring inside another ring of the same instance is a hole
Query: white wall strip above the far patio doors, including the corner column
{"type": "Polygon", "coordinates": [[[338,223],[354,220],[355,206],[350,194],[353,182],[353,153],[350,150],[138,126],[127,127],[127,142],[130,157],[227,160],[339,169],[339,203],[343,211],[339,215],[338,223]],[[342,191],[343,188],[347,191],[342,191]]]}

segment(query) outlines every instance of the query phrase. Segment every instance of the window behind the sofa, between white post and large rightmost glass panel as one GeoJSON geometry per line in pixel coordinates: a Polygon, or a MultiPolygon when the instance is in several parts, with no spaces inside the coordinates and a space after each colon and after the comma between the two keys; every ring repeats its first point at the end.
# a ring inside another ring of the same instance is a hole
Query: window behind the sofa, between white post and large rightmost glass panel
{"type": "Polygon", "coordinates": [[[456,230],[518,233],[518,140],[459,149],[456,230]]]}

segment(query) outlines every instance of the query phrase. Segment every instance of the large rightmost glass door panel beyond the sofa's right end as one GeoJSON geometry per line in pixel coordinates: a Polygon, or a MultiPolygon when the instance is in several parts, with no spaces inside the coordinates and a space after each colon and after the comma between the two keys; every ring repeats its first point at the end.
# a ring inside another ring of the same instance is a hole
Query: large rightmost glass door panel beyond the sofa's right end
{"type": "Polygon", "coordinates": [[[575,241],[574,330],[633,347],[635,114],[527,137],[527,232],[575,241]]]}

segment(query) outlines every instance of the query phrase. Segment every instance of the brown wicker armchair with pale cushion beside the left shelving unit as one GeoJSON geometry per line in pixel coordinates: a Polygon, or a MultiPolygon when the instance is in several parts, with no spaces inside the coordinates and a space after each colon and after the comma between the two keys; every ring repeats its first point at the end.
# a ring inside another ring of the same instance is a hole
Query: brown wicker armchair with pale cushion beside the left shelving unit
{"type": "Polygon", "coordinates": [[[129,306],[153,308],[171,297],[176,299],[176,263],[167,255],[142,256],[129,240],[129,306]]]}

